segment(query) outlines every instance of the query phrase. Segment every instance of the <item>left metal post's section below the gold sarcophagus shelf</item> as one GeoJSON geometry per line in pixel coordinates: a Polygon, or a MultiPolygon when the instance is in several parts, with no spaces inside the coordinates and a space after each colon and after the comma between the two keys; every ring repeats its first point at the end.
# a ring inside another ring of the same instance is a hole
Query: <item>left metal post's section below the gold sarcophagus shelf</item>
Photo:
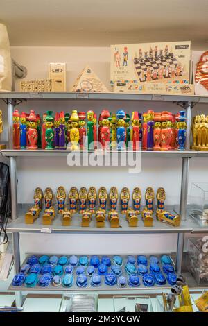
{"type": "MultiPolygon", "coordinates": [[[[12,247],[14,255],[15,274],[19,273],[20,270],[20,250],[19,250],[19,232],[12,233],[12,247]]],[[[16,307],[21,307],[23,304],[21,291],[15,292],[15,304],[16,307]]]]}

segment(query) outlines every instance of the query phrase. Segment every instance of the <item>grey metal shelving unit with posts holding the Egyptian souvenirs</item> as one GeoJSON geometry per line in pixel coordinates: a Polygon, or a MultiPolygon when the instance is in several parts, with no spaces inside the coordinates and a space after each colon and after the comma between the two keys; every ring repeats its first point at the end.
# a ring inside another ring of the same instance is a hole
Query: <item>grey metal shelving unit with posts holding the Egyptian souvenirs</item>
{"type": "MultiPolygon", "coordinates": [[[[14,260],[15,260],[15,273],[19,273],[20,264],[20,247],[19,247],[19,233],[20,232],[41,232],[41,225],[38,224],[38,221],[34,223],[34,225],[23,225],[23,217],[20,215],[18,217],[17,214],[17,176],[16,176],[16,157],[17,156],[65,156],[67,155],[67,151],[14,151],[12,148],[12,114],[14,112],[15,106],[19,105],[22,101],[31,101],[31,100],[75,100],[83,99],[83,100],[110,100],[110,101],[169,101],[175,102],[184,108],[186,111],[187,117],[187,141],[185,146],[185,151],[167,151],[166,153],[157,153],[155,151],[152,152],[142,152],[144,155],[150,155],[150,157],[158,156],[158,157],[178,157],[182,159],[182,178],[181,178],[181,192],[180,192],[180,216],[181,216],[181,226],[178,228],[174,228],[168,225],[164,225],[164,223],[160,223],[154,220],[153,228],[144,228],[142,225],[142,221],[139,221],[139,226],[135,228],[128,228],[124,224],[123,230],[118,231],[105,227],[103,230],[99,228],[62,228],[58,226],[58,221],[55,221],[53,225],[51,225],[51,232],[123,232],[123,233],[148,233],[148,232],[157,232],[157,233],[174,233],[177,235],[177,252],[175,259],[175,268],[177,273],[182,272],[182,257],[183,257],[183,249],[184,249],[184,233],[189,232],[208,232],[206,228],[200,228],[196,223],[190,220],[187,217],[187,189],[189,183],[189,160],[191,157],[207,157],[208,152],[198,151],[190,151],[190,135],[191,135],[191,109],[196,103],[208,103],[208,97],[202,96],[173,96],[173,95],[152,95],[152,94],[116,94],[116,93],[78,93],[78,92],[38,92],[38,93],[30,93],[30,92],[1,92],[0,99],[6,102],[8,105],[8,133],[9,133],[9,146],[8,150],[1,151],[1,155],[8,156],[10,159],[10,187],[11,187],[11,196],[12,196],[12,222],[8,223],[8,232],[12,232],[12,240],[13,240],[13,248],[14,248],[14,260]],[[185,221],[187,220],[187,221],[185,221]],[[38,226],[36,226],[38,225],[38,226]],[[69,231],[70,229],[70,231],[69,231]]],[[[86,102],[87,104],[87,102],[86,102]]],[[[76,220],[76,218],[75,218],[76,220]]],[[[124,221],[122,222],[124,223],[124,221]]],[[[107,225],[107,224],[106,224],[107,225]]],[[[121,228],[122,229],[122,228],[121,228]]],[[[184,275],[187,277],[187,283],[190,287],[198,288],[196,286],[193,277],[190,277],[189,274],[184,275]]],[[[139,287],[137,289],[138,293],[142,289],[139,287]]],[[[146,289],[146,287],[144,288],[146,289]]],[[[38,291],[46,291],[46,289],[38,289],[38,291]]],[[[53,289],[54,290],[54,289],[53,289]]],[[[116,291],[116,289],[112,289],[116,291]]],[[[31,291],[31,289],[28,289],[31,291]]],[[[18,307],[21,307],[23,303],[23,297],[21,294],[21,288],[15,289],[16,293],[16,304],[18,307]],[[19,291],[18,291],[19,290],[19,291]]]]}

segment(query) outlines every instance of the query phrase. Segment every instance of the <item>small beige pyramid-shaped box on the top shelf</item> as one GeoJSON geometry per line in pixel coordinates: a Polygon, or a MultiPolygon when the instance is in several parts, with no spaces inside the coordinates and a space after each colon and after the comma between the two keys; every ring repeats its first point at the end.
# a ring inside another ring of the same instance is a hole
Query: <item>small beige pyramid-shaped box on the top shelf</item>
{"type": "Polygon", "coordinates": [[[96,76],[89,66],[86,66],[76,78],[71,92],[109,92],[100,78],[96,76]]]}

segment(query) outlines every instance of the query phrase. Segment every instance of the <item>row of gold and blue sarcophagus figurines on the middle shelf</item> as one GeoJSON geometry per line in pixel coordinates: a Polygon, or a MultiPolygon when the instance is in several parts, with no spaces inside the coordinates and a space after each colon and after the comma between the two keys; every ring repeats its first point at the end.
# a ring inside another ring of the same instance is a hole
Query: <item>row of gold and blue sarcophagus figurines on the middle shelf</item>
{"type": "MultiPolygon", "coordinates": [[[[56,198],[58,203],[58,214],[62,214],[62,224],[70,225],[72,214],[77,212],[79,205],[79,213],[83,214],[82,226],[89,226],[89,222],[92,219],[92,214],[96,214],[96,226],[105,226],[105,214],[107,206],[107,190],[105,187],[101,187],[98,191],[99,207],[96,209],[96,188],[90,187],[89,191],[85,187],[81,187],[80,191],[76,187],[71,187],[69,191],[69,209],[65,207],[66,191],[64,187],[58,187],[56,198]],[[89,203],[89,209],[87,208],[87,200],[89,203]]],[[[180,225],[180,216],[175,216],[164,210],[164,201],[166,198],[164,188],[157,189],[157,210],[156,216],[159,221],[166,221],[174,226],[180,225]]],[[[55,209],[52,205],[53,191],[47,187],[44,191],[37,187],[34,194],[34,206],[26,213],[25,221],[28,224],[34,223],[35,219],[39,216],[42,210],[42,199],[44,198],[45,210],[43,214],[43,224],[50,225],[53,218],[55,218],[55,209]]],[[[110,199],[110,212],[108,219],[112,228],[119,228],[119,213],[116,211],[117,201],[119,195],[116,187],[111,187],[109,199],[110,199]]],[[[123,187],[121,190],[121,214],[125,214],[130,226],[137,226],[138,215],[140,214],[141,207],[141,190],[139,187],[135,187],[132,193],[133,208],[129,207],[130,191],[127,187],[123,187]]],[[[142,219],[145,226],[153,226],[153,201],[155,195],[152,187],[148,187],[145,193],[146,206],[141,212],[142,219]]]]}

